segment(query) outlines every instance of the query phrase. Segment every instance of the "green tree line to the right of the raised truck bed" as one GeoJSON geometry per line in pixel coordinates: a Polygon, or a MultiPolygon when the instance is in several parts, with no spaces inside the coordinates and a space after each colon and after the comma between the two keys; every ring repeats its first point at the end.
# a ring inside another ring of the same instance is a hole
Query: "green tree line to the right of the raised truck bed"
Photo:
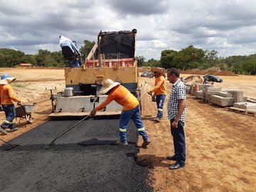
{"type": "Polygon", "coordinates": [[[139,66],[161,68],[178,68],[181,70],[230,70],[236,74],[256,75],[256,54],[233,55],[219,58],[215,50],[203,50],[188,46],[182,50],[163,50],[160,60],[153,58],[146,61],[143,56],[137,57],[139,66]]]}

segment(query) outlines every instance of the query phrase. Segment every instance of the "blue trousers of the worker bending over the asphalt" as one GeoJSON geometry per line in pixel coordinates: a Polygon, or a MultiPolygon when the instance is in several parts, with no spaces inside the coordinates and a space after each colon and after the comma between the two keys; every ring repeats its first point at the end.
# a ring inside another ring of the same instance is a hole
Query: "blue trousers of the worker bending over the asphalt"
{"type": "Polygon", "coordinates": [[[132,110],[124,111],[122,110],[120,119],[119,119],[119,138],[121,142],[127,141],[127,125],[129,120],[132,119],[134,124],[137,127],[139,135],[142,136],[144,140],[148,139],[149,137],[146,134],[146,130],[144,128],[144,124],[142,122],[142,118],[140,117],[140,110],[139,105],[132,110]]]}

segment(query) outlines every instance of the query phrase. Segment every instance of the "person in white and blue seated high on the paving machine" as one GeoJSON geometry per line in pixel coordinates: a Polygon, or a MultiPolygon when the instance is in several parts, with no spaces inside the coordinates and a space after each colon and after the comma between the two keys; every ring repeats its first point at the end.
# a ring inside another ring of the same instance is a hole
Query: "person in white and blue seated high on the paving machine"
{"type": "MultiPolygon", "coordinates": [[[[60,47],[69,47],[70,50],[73,51],[73,56],[77,57],[75,59],[68,58],[68,64],[70,65],[70,68],[80,68],[80,65],[78,63],[78,56],[81,56],[81,53],[79,52],[77,46],[71,41],[69,38],[66,38],[65,36],[60,36],[60,47]]],[[[65,57],[65,55],[64,55],[65,57]]]]}

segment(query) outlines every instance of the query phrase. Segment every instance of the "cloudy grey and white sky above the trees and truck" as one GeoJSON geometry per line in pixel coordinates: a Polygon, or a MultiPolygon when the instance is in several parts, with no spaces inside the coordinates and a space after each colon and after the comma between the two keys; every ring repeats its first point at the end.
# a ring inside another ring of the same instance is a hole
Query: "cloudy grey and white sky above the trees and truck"
{"type": "Polygon", "coordinates": [[[58,51],[64,35],[83,46],[102,31],[137,29],[137,55],[190,45],[218,56],[256,52],[255,0],[0,0],[0,48],[58,51]]]}

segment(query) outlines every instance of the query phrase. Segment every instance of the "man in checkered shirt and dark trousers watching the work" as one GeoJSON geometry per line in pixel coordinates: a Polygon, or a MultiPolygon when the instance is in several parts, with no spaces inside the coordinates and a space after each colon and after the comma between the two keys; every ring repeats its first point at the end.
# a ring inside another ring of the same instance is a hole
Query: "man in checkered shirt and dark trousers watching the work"
{"type": "Polygon", "coordinates": [[[169,169],[180,169],[185,166],[186,142],[184,134],[184,122],[186,119],[186,87],[179,78],[176,68],[168,70],[167,78],[173,87],[167,103],[168,119],[171,122],[171,135],[174,137],[174,155],[167,159],[176,161],[169,169]]]}

